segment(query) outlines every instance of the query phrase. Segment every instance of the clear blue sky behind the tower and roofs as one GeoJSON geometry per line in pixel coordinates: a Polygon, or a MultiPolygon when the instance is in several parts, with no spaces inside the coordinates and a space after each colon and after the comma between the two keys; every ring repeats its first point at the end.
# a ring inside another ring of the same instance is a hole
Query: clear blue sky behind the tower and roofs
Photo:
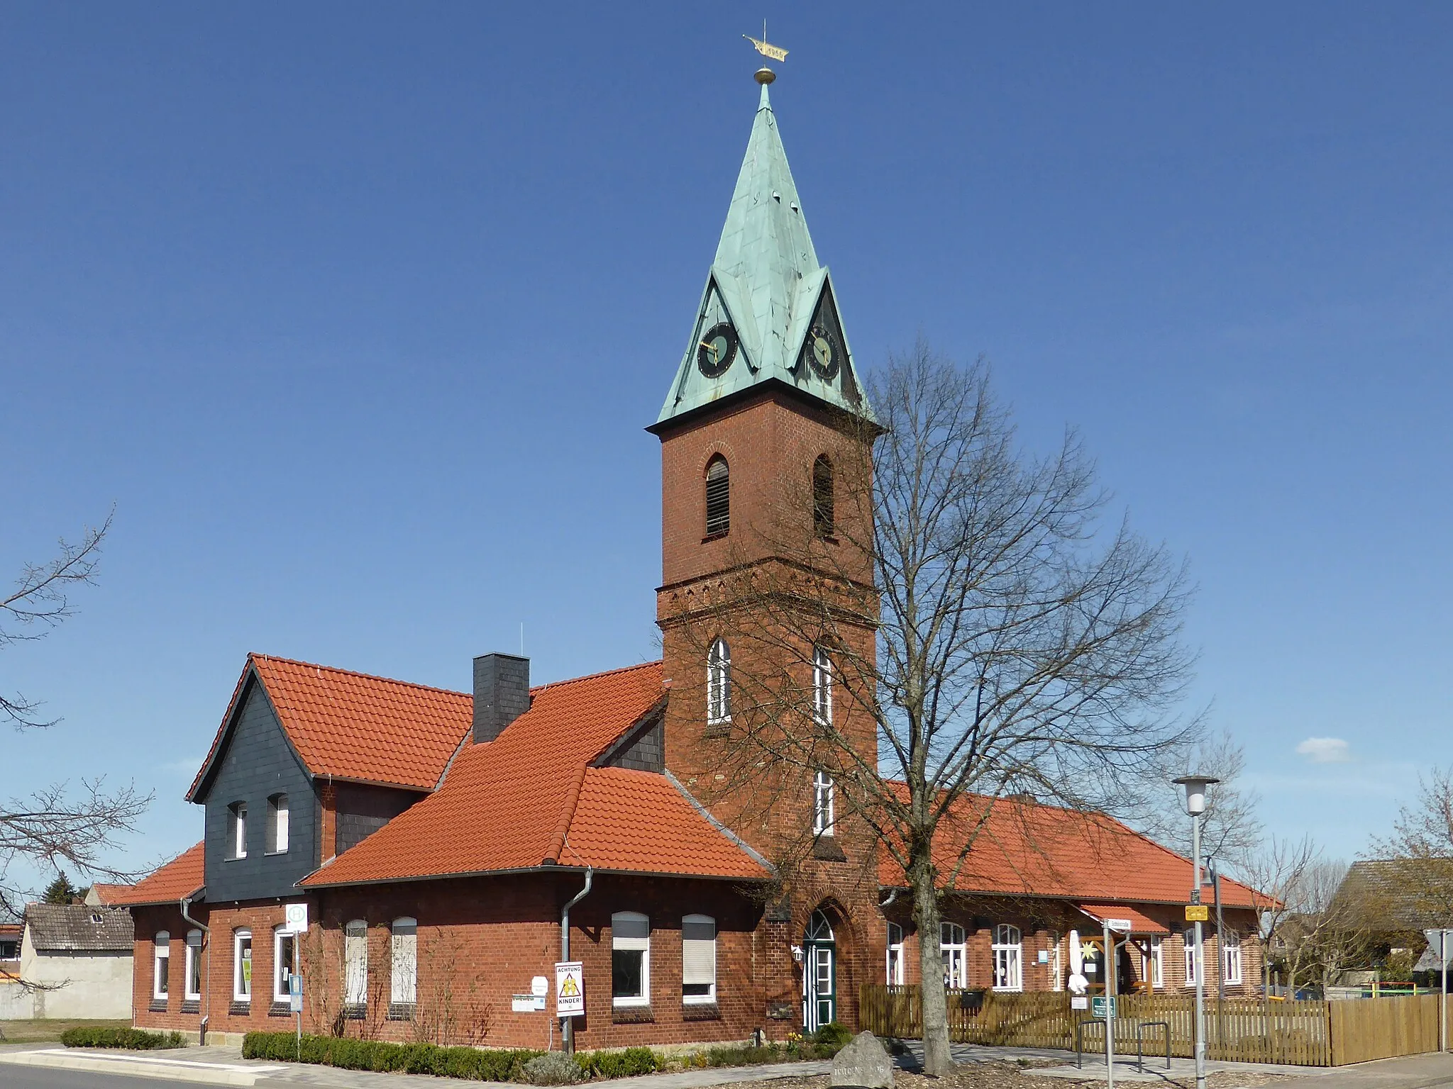
{"type": "MultiPolygon", "coordinates": [[[[141,865],[199,836],[248,650],[455,688],[522,623],[539,680],[655,656],[642,427],[761,15],[4,4],[0,572],[116,505],[81,614],[0,659],[64,717],[6,787],[155,788],[141,865]]],[[[1030,446],[1080,427],[1191,560],[1268,828],[1363,849],[1453,758],[1453,7],[767,16],[859,364],[921,333],[1030,446]]]]}

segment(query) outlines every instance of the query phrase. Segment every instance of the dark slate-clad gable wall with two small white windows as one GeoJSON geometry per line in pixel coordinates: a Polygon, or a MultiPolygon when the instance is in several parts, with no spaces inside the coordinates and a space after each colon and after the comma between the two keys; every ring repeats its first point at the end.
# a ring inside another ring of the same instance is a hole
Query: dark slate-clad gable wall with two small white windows
{"type": "Polygon", "coordinates": [[[244,682],[231,738],[215,762],[206,793],[206,897],[218,903],[289,896],[318,865],[318,810],[312,777],[278,720],[256,677],[244,682]],[[288,796],[288,849],[269,851],[267,800],[288,796]],[[228,809],[247,806],[247,855],[232,857],[228,809]]]}

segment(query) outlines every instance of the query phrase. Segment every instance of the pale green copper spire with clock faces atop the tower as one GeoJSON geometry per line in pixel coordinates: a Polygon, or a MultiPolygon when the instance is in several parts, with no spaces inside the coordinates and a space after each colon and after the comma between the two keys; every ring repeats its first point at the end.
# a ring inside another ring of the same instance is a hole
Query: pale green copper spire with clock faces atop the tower
{"type": "Polygon", "coordinates": [[[692,338],[657,424],[772,380],[872,418],[763,83],[692,338]]]}

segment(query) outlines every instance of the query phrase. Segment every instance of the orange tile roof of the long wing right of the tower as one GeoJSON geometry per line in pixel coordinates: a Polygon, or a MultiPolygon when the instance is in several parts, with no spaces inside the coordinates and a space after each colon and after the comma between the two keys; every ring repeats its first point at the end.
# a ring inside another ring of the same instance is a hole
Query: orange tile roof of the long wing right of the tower
{"type": "MultiPolygon", "coordinates": [[[[989,799],[959,800],[934,845],[934,864],[946,880],[989,799]]],[[[883,886],[904,887],[904,873],[883,851],[878,862],[883,886]]],[[[1130,831],[1101,813],[998,799],[955,880],[965,893],[1056,896],[1120,903],[1186,903],[1190,860],[1130,831]]],[[[1222,878],[1221,900],[1252,908],[1251,890],[1222,878]]]]}

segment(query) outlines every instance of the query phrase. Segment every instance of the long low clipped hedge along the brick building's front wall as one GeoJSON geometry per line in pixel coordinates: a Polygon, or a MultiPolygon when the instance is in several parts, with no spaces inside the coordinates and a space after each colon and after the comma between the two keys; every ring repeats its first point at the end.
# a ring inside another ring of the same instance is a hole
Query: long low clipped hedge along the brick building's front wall
{"type": "Polygon", "coordinates": [[[389,1044],[382,1040],[305,1035],[299,1056],[298,1037],[292,1032],[248,1032],[243,1037],[243,1059],[318,1063],[343,1070],[437,1074],[475,1082],[517,1080],[523,1066],[539,1054],[543,1053],[523,1048],[485,1051],[477,1047],[389,1044]]]}

